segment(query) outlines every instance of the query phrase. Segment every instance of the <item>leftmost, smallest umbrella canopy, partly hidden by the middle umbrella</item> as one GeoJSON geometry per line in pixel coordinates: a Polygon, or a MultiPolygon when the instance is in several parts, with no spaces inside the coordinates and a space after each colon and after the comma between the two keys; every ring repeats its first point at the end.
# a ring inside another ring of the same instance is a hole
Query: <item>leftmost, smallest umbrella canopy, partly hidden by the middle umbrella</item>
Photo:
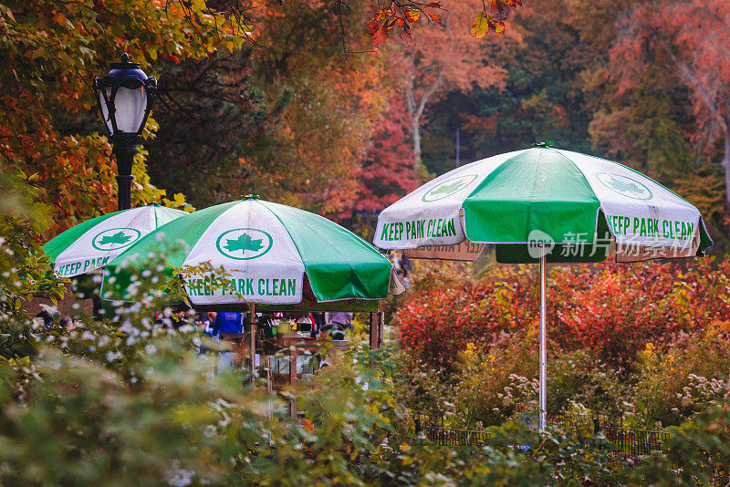
{"type": "Polygon", "coordinates": [[[104,214],[58,234],[43,250],[57,275],[86,274],[108,264],[152,230],[187,214],[158,204],[104,214]]]}

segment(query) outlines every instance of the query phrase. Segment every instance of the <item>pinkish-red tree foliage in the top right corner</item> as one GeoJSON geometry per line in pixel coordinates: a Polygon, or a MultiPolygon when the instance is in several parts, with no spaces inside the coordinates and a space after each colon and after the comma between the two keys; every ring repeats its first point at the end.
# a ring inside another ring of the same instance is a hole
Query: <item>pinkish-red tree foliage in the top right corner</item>
{"type": "MultiPolygon", "coordinates": [[[[730,4],[724,0],[684,0],[638,5],[620,22],[610,51],[620,72],[618,94],[652,76],[651,59],[664,57],[690,95],[695,147],[717,150],[730,202],[730,4]]],[[[653,81],[655,82],[655,80],[653,81]]]]}

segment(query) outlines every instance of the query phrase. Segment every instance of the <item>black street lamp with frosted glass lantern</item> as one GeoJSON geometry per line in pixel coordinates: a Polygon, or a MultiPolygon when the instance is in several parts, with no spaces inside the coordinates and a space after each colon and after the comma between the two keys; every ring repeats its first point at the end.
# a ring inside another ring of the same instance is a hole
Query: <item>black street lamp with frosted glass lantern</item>
{"type": "Polygon", "coordinates": [[[130,63],[126,52],[120,63],[111,63],[106,75],[94,78],[99,112],[117,159],[120,210],[131,208],[131,165],[156,92],[157,79],[148,78],[139,63],[130,63]]]}

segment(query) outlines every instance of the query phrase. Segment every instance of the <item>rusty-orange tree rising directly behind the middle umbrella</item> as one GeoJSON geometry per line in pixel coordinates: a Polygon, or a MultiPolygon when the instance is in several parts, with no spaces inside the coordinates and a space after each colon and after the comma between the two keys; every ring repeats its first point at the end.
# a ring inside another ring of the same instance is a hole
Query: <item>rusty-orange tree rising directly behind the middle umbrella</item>
{"type": "Polygon", "coordinates": [[[226,188],[257,192],[321,214],[349,213],[360,163],[388,92],[384,63],[367,51],[367,4],[272,2],[255,14],[252,81],[264,100],[287,97],[266,138],[245,140],[246,178],[226,188]],[[342,24],[340,25],[340,20],[342,24]]]}

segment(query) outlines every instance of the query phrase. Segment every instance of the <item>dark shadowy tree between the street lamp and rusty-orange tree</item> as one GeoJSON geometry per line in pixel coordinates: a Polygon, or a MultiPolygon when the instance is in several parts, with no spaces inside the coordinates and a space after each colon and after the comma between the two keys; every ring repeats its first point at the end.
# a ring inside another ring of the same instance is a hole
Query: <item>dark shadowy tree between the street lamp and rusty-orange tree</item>
{"type": "Polygon", "coordinates": [[[268,95],[256,82],[254,50],[246,45],[154,65],[163,82],[154,105],[157,137],[145,144],[151,180],[183,192],[195,206],[247,192],[239,191],[239,183],[252,175],[239,158],[245,148],[252,153],[251,147],[272,143],[271,132],[287,107],[289,93],[268,95]]]}

